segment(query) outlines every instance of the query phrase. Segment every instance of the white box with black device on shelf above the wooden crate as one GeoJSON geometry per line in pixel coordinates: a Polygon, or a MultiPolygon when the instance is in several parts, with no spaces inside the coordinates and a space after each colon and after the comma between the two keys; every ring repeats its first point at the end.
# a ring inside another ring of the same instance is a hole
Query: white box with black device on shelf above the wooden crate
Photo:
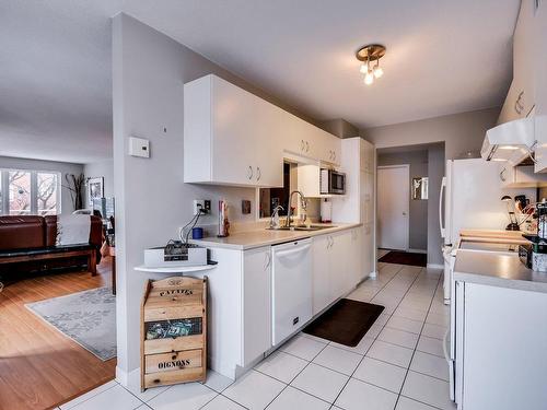
{"type": "Polygon", "coordinates": [[[147,268],[205,266],[207,260],[207,248],[182,241],[172,239],[166,246],[144,249],[144,266],[147,268]]]}

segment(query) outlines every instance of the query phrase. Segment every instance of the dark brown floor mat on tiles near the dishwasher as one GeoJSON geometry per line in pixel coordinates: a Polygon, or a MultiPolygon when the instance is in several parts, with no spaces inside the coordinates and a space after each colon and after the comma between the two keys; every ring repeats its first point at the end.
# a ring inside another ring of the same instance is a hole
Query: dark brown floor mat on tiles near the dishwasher
{"type": "Polygon", "coordinates": [[[341,298],[307,325],[303,332],[354,348],[382,311],[384,306],[341,298]]]}

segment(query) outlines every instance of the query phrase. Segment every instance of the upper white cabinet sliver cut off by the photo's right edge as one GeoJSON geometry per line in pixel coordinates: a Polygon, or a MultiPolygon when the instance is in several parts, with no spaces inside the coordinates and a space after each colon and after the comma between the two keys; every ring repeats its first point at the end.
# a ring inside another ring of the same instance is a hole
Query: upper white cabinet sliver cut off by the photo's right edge
{"type": "Polygon", "coordinates": [[[537,140],[535,171],[547,172],[547,1],[542,1],[534,17],[534,97],[535,136],[537,140]]]}

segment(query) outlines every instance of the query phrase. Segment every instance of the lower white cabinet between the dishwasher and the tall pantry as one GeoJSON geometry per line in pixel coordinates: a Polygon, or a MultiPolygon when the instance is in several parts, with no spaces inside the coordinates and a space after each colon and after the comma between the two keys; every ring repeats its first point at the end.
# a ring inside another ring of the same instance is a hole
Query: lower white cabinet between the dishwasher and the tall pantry
{"type": "Polygon", "coordinates": [[[360,279],[359,229],[313,238],[313,314],[350,292],[360,279]]]}

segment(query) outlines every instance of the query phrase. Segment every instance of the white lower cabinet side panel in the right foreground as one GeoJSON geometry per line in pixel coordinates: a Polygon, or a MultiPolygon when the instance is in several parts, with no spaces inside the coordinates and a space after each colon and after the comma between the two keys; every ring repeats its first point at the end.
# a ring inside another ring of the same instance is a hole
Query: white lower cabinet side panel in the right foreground
{"type": "Polygon", "coordinates": [[[458,409],[545,409],[547,294],[457,283],[458,409]]]}

